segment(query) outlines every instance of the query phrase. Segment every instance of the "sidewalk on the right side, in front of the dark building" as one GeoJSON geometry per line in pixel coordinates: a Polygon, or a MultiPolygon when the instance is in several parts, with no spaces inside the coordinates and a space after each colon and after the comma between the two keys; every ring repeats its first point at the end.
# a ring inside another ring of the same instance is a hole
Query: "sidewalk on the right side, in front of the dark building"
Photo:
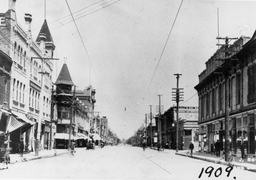
{"type": "MultiPolygon", "coordinates": [[[[188,150],[179,150],[179,152],[176,152],[175,154],[186,156],[187,151],[188,150]]],[[[226,162],[224,161],[225,155],[221,154],[221,157],[223,158],[223,160],[221,160],[218,164],[226,165],[226,162]]],[[[205,153],[205,152],[193,152],[193,155],[191,158],[203,160],[211,163],[214,163],[216,160],[220,159],[219,157],[217,158],[216,155],[211,155],[210,153],[205,153]]],[[[234,156],[234,168],[256,172],[256,157],[241,159],[234,156]]]]}

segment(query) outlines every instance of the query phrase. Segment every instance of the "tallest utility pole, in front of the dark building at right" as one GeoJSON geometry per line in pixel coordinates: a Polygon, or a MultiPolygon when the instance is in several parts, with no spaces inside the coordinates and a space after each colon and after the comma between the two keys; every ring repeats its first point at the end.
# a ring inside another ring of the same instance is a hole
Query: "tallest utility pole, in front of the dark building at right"
{"type": "MultiPolygon", "coordinates": [[[[225,77],[225,161],[228,161],[229,158],[229,153],[230,153],[230,147],[229,147],[229,77],[231,74],[237,74],[234,72],[234,66],[231,66],[231,61],[237,61],[237,58],[229,58],[230,55],[232,55],[232,50],[229,50],[229,46],[231,44],[228,44],[229,41],[233,39],[238,39],[238,38],[229,38],[229,37],[217,37],[217,39],[224,39],[225,44],[217,44],[218,46],[224,46],[224,51],[219,50],[218,52],[224,52],[225,53],[225,59],[216,59],[219,61],[222,61],[223,63],[227,63],[227,67],[224,67],[223,72],[221,74],[224,74],[225,77]],[[232,72],[233,71],[233,72],[232,72]]],[[[216,72],[218,73],[218,72],[216,72]]],[[[220,73],[218,73],[220,74],[220,73]]]]}

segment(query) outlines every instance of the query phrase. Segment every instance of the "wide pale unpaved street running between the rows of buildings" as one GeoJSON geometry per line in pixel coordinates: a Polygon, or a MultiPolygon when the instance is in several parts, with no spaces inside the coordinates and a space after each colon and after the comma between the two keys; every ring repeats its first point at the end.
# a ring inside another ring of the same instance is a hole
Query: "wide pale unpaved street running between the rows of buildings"
{"type": "Polygon", "coordinates": [[[256,173],[231,169],[175,155],[175,150],[158,152],[131,146],[106,146],[8,166],[0,178],[51,179],[255,179],[256,173]],[[208,167],[212,168],[208,168],[208,167]],[[201,173],[204,168],[203,173],[201,173]],[[208,168],[208,169],[207,169],[208,168]],[[209,173],[212,170],[210,177],[209,173]],[[218,169],[218,170],[217,170],[218,169]],[[228,172],[229,177],[227,177],[228,172]],[[201,177],[199,175],[201,173],[201,177]]]}

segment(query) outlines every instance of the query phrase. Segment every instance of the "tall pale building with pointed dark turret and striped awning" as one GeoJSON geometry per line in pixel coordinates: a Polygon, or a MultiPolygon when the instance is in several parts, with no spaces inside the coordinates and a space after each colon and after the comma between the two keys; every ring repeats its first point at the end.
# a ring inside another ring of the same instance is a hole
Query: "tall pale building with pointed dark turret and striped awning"
{"type": "MultiPolygon", "coordinates": [[[[9,0],[9,9],[0,13],[0,50],[13,61],[6,127],[10,151],[17,152],[21,139],[25,151],[49,149],[52,71],[55,45],[45,20],[36,41],[32,40],[32,15],[25,14],[25,28],[19,25],[15,10],[16,0],[9,0]]],[[[8,66],[5,66],[9,71],[8,66]]],[[[0,122],[1,125],[1,122],[0,122]]]]}

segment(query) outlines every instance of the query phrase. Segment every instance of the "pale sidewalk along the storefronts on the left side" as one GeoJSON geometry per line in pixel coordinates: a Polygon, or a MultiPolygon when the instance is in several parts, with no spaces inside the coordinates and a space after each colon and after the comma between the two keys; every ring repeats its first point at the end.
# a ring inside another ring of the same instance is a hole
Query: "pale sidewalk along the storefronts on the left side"
{"type": "MultiPolygon", "coordinates": [[[[75,150],[76,151],[86,150],[86,147],[78,147],[75,150]]],[[[56,152],[57,152],[56,155],[70,153],[70,151],[68,151],[68,149],[56,149],[56,152]]],[[[11,159],[10,164],[22,162],[22,159],[20,158],[19,154],[9,154],[9,155],[10,155],[10,159],[11,159]]],[[[35,152],[24,153],[23,155],[24,155],[24,158],[27,158],[28,161],[31,161],[31,160],[38,160],[38,159],[42,159],[42,158],[53,157],[53,156],[55,156],[55,152],[54,152],[54,149],[52,149],[52,150],[39,151],[38,156],[35,155],[35,152]]]]}

